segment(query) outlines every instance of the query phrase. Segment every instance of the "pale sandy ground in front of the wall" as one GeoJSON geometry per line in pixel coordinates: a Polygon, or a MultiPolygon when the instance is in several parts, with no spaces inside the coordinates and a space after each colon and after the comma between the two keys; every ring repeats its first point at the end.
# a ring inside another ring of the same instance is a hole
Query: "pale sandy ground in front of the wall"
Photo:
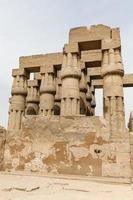
{"type": "Polygon", "coordinates": [[[0,175],[0,200],[133,200],[133,185],[0,175]]]}

